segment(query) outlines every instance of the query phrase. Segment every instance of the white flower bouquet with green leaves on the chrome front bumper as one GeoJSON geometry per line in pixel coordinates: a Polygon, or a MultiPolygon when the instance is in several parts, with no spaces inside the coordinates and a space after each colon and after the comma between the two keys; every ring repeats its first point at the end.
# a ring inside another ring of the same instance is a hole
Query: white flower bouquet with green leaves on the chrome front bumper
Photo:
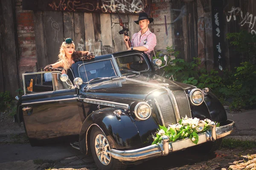
{"type": "MultiPolygon", "coordinates": [[[[169,125],[168,128],[159,125],[160,129],[153,135],[154,141],[152,144],[160,144],[162,142],[162,136],[168,136],[170,142],[175,142],[180,139],[189,138],[195,144],[198,143],[198,132],[204,132],[210,129],[210,119],[200,120],[198,118],[188,118],[187,116],[175,125],[169,125]]],[[[216,127],[219,123],[216,123],[216,127]]]]}

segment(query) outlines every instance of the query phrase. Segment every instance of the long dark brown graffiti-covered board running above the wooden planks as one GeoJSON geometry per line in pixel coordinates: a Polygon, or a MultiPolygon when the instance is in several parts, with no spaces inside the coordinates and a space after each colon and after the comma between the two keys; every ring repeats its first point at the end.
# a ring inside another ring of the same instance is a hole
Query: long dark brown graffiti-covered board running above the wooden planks
{"type": "Polygon", "coordinates": [[[70,12],[150,14],[150,0],[23,0],[23,9],[70,12]]]}

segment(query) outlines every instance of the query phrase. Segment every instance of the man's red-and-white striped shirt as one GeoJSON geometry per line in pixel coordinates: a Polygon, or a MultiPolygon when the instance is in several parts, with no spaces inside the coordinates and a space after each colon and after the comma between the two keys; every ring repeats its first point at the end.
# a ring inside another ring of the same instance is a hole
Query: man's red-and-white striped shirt
{"type": "Polygon", "coordinates": [[[147,48],[148,51],[144,51],[144,52],[152,60],[151,51],[153,51],[154,47],[157,45],[156,35],[151,31],[149,31],[149,29],[142,35],[141,35],[141,31],[142,30],[140,30],[138,33],[133,34],[131,38],[131,46],[132,47],[143,46],[147,48]]]}

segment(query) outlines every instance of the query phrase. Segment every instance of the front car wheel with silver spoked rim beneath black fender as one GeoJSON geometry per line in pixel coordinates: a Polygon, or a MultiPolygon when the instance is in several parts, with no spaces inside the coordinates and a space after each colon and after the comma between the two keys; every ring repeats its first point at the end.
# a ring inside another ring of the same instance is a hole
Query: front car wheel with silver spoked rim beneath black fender
{"type": "Polygon", "coordinates": [[[124,170],[127,165],[111,157],[111,146],[99,127],[93,127],[90,133],[90,148],[93,159],[100,170],[124,170]]]}

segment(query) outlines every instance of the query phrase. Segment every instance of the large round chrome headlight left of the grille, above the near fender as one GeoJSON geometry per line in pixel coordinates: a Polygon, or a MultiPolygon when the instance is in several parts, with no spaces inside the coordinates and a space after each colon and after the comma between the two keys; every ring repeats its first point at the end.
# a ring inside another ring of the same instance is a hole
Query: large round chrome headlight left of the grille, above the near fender
{"type": "Polygon", "coordinates": [[[151,115],[151,107],[146,102],[139,102],[134,108],[134,113],[140,120],[148,119],[151,115]]]}

